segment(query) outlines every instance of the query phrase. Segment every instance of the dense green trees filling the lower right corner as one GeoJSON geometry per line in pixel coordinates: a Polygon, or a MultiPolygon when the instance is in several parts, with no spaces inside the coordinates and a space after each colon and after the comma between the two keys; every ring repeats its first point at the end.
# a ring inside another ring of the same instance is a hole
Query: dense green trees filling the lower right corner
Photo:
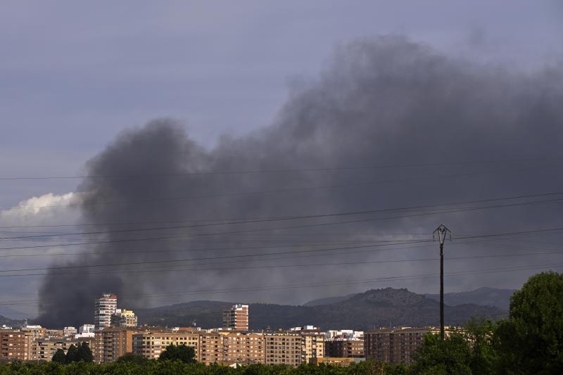
{"type": "Polygon", "coordinates": [[[426,336],[413,374],[563,374],[563,274],[536,274],[508,319],[470,320],[444,341],[426,336]]]}

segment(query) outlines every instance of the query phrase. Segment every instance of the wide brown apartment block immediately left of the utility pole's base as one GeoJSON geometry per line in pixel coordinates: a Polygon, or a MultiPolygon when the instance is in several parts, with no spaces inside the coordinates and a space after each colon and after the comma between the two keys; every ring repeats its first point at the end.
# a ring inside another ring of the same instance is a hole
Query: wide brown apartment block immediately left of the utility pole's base
{"type": "Polygon", "coordinates": [[[365,357],[388,363],[406,363],[414,360],[415,352],[422,346],[426,333],[438,333],[435,327],[398,327],[364,333],[365,357]]]}

